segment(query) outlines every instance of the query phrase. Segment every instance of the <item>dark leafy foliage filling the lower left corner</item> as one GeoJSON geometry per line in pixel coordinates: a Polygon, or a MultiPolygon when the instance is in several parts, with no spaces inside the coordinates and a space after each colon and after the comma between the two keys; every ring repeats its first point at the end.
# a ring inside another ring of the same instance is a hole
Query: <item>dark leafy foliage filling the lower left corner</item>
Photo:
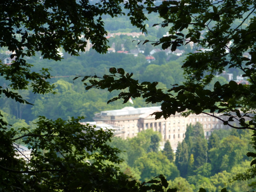
{"type": "Polygon", "coordinates": [[[72,118],[65,122],[40,117],[36,122],[36,129],[29,131],[27,127],[20,127],[16,132],[18,137],[11,131],[1,131],[1,189],[105,190],[104,188],[116,185],[121,178],[128,179],[127,176],[118,174],[118,168],[104,163],[106,160],[120,163],[116,156],[119,150],[105,144],[113,133],[95,131],[93,127],[81,125],[79,120],[72,118]],[[9,137],[6,138],[6,135],[9,137]],[[6,145],[8,142],[12,143],[10,147],[6,145]],[[31,159],[25,155],[20,159],[15,158],[15,151],[23,150],[20,144],[27,145],[32,150],[31,159]],[[106,183],[102,186],[103,180],[108,180],[109,185],[106,183]]]}

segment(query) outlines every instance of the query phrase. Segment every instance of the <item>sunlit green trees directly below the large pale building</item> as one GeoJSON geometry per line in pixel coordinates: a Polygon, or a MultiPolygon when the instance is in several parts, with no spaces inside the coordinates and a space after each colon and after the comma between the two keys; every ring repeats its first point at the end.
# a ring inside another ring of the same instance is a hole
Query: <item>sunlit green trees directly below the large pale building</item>
{"type": "Polygon", "coordinates": [[[251,158],[244,151],[252,151],[252,131],[215,130],[210,138],[204,138],[200,123],[187,125],[186,137],[179,143],[174,154],[170,143],[159,150],[161,135],[151,129],[140,132],[137,137],[122,140],[114,137],[110,146],[121,149],[122,172],[134,179],[147,181],[164,173],[168,183],[178,191],[194,192],[200,188],[217,192],[251,191],[255,179],[236,180],[238,173],[250,168],[251,158]]]}

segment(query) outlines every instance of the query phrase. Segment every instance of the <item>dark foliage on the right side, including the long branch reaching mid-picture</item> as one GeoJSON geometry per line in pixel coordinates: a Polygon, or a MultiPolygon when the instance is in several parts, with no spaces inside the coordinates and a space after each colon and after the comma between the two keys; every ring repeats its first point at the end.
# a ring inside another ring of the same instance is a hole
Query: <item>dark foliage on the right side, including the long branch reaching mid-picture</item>
{"type": "MultiPolygon", "coordinates": [[[[139,83],[132,78],[132,73],[125,73],[121,68],[110,68],[111,75],[105,75],[100,80],[98,76],[84,76],[83,81],[92,78],[89,84],[85,82],[86,89],[107,88],[110,92],[129,89],[109,102],[122,98],[125,103],[130,97],[141,96],[147,103],[161,102],[162,111],[154,113],[156,119],[161,116],[168,118],[177,112],[184,112],[186,115],[204,113],[218,118],[230,127],[255,130],[252,115],[256,87],[254,3],[247,0],[183,0],[165,1],[161,6],[146,9],[148,12],[158,12],[164,19],[158,25],[170,27],[169,34],[172,34],[151,42],[153,45],[161,44],[163,49],[171,47],[175,51],[178,46],[192,43],[204,49],[191,52],[183,63],[186,82],[183,85],[175,84],[168,90],[157,89],[157,82],[139,83]],[[244,25],[246,20],[249,20],[248,25],[244,25]],[[221,85],[217,81],[213,90],[205,89],[212,78],[222,73],[225,68],[240,69],[250,84],[230,81],[221,85]],[[220,118],[218,113],[224,113],[228,119],[220,118]],[[247,117],[250,121],[246,123],[247,117]],[[235,120],[239,124],[233,125],[235,120]]],[[[145,40],[143,43],[149,42],[150,40],[145,40]]]]}

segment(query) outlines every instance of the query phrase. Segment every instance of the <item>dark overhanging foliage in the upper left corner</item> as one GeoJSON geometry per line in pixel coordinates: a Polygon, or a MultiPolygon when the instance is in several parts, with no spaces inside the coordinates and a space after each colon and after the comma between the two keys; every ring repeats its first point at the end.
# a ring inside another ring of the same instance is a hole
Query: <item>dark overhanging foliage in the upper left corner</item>
{"type": "MultiPolygon", "coordinates": [[[[49,69],[31,71],[33,65],[27,63],[27,58],[35,56],[36,52],[40,52],[44,59],[57,61],[61,60],[59,48],[71,55],[78,55],[79,51],[85,51],[88,39],[97,52],[107,51],[107,39],[104,37],[107,32],[100,16],[108,14],[113,18],[123,15],[119,5],[123,2],[116,0],[111,4],[106,1],[91,3],[84,0],[72,3],[33,0],[1,2],[3,10],[0,19],[3,30],[0,47],[7,47],[12,52],[11,59],[14,59],[12,65],[1,63],[1,76],[9,81],[12,89],[21,90],[31,86],[35,93],[52,92],[53,86],[47,82],[51,78],[49,69]],[[81,36],[86,39],[80,38],[81,36]]],[[[153,3],[147,1],[147,6],[151,5],[153,3]]],[[[147,19],[142,12],[143,6],[124,3],[124,9],[129,10],[132,25],[146,32],[142,24],[147,19]]],[[[5,89],[2,85],[0,93],[20,103],[28,103],[19,94],[5,89]]]]}

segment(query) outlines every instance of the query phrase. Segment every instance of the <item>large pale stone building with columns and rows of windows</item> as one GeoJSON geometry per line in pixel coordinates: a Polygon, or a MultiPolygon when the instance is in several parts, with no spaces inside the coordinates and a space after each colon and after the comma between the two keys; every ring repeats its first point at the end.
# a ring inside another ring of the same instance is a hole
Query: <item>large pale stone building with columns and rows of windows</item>
{"type": "MultiPolygon", "coordinates": [[[[184,117],[178,113],[167,119],[160,118],[155,120],[155,116],[151,116],[150,114],[156,111],[161,111],[161,107],[124,107],[118,110],[101,111],[95,114],[93,119],[97,124],[106,123],[120,128],[118,131],[121,131],[122,134],[119,136],[124,139],[135,137],[138,132],[143,130],[153,129],[162,134],[164,141],[169,140],[174,150],[177,148],[178,142],[182,142],[185,138],[187,125],[190,123],[201,123],[206,138],[209,138],[215,129],[228,129],[228,126],[223,125],[223,122],[219,119],[204,114],[192,114],[184,117]]],[[[227,116],[219,115],[219,117],[223,120],[228,120],[227,116]]]]}

